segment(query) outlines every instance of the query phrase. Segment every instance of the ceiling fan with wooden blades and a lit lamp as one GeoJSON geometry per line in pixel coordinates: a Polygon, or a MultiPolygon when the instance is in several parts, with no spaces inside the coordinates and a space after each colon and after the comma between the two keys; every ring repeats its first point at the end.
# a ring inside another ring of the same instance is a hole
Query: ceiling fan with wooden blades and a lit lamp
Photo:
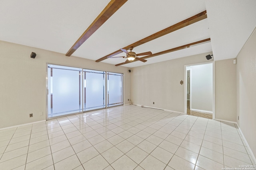
{"type": "MultiPolygon", "coordinates": [[[[151,51],[148,51],[148,52],[145,52],[145,53],[140,53],[140,54],[136,54],[134,52],[132,52],[132,49],[133,47],[130,47],[129,50],[130,52],[128,52],[126,49],[120,49],[122,51],[124,51],[124,53],[126,53],[126,57],[123,57],[123,58],[126,58],[127,60],[124,62],[125,64],[126,63],[129,63],[130,61],[133,61],[134,59],[137,59],[139,61],[142,61],[142,62],[146,62],[145,59],[142,59],[142,58],[139,58],[137,56],[141,56],[141,55],[151,55],[151,51]]],[[[119,58],[119,57],[109,57],[109,58],[119,58]]]]}

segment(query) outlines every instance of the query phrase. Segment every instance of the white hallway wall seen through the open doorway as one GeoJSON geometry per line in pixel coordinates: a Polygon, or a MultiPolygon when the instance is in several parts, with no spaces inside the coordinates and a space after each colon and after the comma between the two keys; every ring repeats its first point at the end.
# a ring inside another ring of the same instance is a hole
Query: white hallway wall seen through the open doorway
{"type": "Polygon", "coordinates": [[[212,63],[189,66],[191,109],[212,112],[212,63]]]}

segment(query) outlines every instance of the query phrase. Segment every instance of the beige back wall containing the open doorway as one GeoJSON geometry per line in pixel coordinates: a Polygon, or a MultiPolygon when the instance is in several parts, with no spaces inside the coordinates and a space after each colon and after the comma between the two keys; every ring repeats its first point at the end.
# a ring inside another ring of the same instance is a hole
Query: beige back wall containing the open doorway
{"type": "MultiPolygon", "coordinates": [[[[185,84],[180,84],[180,80],[184,81],[184,65],[208,62],[205,58],[208,54],[193,55],[132,68],[132,103],[184,113],[185,84]]],[[[226,100],[236,100],[236,93],[225,91],[230,88],[230,84],[236,84],[236,81],[234,81],[236,80],[234,79],[236,73],[232,71],[225,72],[229,68],[234,69],[232,66],[232,63],[226,65],[225,60],[218,61],[217,67],[215,66],[215,86],[218,87],[215,96],[216,101],[220,100],[222,102],[221,105],[220,103],[215,105],[216,119],[234,121],[236,117],[236,111],[234,111],[236,102],[226,100]]]]}

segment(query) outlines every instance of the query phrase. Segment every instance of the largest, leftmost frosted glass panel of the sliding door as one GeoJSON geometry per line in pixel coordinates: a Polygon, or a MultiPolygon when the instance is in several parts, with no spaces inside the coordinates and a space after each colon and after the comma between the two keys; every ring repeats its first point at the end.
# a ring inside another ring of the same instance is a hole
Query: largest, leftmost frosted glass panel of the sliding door
{"type": "Polygon", "coordinates": [[[77,68],[48,68],[48,117],[82,111],[81,73],[82,69],[78,71],[77,68]]]}

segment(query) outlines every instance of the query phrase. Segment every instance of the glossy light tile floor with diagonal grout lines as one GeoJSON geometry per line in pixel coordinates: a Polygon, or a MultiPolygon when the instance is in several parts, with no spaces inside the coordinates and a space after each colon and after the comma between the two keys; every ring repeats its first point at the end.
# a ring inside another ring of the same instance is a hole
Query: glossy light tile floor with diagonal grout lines
{"type": "Polygon", "coordinates": [[[0,170],[222,170],[255,165],[233,123],[118,106],[0,131],[0,170]]]}

